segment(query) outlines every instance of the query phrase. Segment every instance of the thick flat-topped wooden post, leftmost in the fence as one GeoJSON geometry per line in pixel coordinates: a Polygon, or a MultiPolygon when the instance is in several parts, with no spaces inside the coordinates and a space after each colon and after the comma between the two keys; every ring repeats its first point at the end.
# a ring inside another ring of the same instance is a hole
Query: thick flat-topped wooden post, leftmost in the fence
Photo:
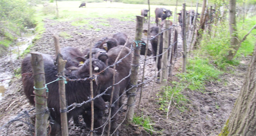
{"type": "Polygon", "coordinates": [[[47,98],[45,91],[45,76],[44,76],[44,59],[42,55],[31,53],[32,71],[35,73],[34,86],[35,88],[35,135],[47,135],[47,120],[49,113],[47,112],[47,98]],[[39,88],[44,88],[40,89],[39,88]]]}

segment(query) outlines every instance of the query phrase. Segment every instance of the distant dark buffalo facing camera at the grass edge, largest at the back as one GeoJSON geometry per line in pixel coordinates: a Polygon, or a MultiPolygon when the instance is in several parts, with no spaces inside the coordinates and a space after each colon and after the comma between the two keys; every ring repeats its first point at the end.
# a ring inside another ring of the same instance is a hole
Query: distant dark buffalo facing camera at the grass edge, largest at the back
{"type": "Polygon", "coordinates": [[[167,17],[172,16],[172,11],[167,10],[166,8],[156,8],[155,9],[155,22],[158,25],[158,18],[161,20],[165,20],[167,17]]]}

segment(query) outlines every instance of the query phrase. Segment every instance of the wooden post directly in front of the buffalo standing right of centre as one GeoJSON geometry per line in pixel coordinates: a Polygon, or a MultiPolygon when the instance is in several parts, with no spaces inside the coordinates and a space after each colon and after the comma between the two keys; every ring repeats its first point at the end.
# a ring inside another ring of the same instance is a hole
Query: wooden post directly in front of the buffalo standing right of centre
{"type": "MultiPolygon", "coordinates": [[[[168,29],[170,25],[170,20],[164,20],[164,28],[168,29]]],[[[170,45],[169,41],[169,30],[163,32],[163,55],[161,62],[161,73],[160,73],[160,83],[162,86],[166,86],[167,84],[167,58],[168,58],[168,47],[170,45]],[[165,52],[166,51],[166,52],[165,52]],[[165,53],[164,53],[165,52],[165,53]]]]}

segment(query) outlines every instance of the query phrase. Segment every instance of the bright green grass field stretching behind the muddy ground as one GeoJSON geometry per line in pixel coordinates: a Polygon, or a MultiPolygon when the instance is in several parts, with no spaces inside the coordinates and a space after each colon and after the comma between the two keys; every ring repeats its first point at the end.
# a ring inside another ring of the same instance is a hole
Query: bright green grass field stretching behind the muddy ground
{"type": "MultiPolygon", "coordinates": [[[[56,8],[56,3],[49,3],[52,7],[56,8]]],[[[101,3],[86,3],[86,8],[78,8],[81,4],[81,1],[61,1],[58,2],[58,10],[59,10],[59,21],[67,21],[74,20],[76,18],[118,18],[121,21],[125,20],[133,20],[136,15],[140,15],[140,11],[142,8],[147,8],[148,5],[143,4],[125,4],[118,2],[101,2],[101,3]]],[[[157,7],[163,7],[170,9],[173,11],[175,6],[164,6],[164,5],[150,5],[150,15],[151,17],[155,17],[154,10],[157,7]]],[[[42,5],[36,7],[38,11],[42,11],[44,8],[42,5]]],[[[195,7],[192,7],[195,9],[195,7]]],[[[178,6],[177,11],[179,12],[182,9],[181,6],[178,6]]],[[[189,10],[190,7],[187,7],[189,10]]],[[[201,8],[199,8],[199,11],[201,8]]],[[[54,18],[55,15],[47,15],[46,17],[54,18]]],[[[173,19],[173,16],[170,17],[170,20],[173,19]]]]}

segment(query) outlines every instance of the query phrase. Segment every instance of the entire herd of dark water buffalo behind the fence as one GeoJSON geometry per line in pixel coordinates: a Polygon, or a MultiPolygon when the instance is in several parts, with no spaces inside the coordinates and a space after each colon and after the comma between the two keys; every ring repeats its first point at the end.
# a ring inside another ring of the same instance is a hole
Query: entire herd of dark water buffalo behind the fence
{"type": "MultiPolygon", "coordinates": [[[[80,7],[85,6],[85,3],[82,3],[80,7]]],[[[141,10],[141,14],[147,16],[147,9],[141,10]]],[[[167,17],[172,15],[170,10],[165,8],[156,8],[156,23],[158,23],[157,18],[161,18],[165,20],[167,17]]],[[[160,38],[160,54],[163,49],[163,34],[158,34],[158,29],[161,29],[161,32],[164,31],[163,27],[151,27],[148,34],[150,35],[150,43],[152,45],[152,51],[148,49],[148,55],[153,54],[153,56],[157,55],[157,40],[158,36],[160,38]]],[[[170,30],[169,30],[170,31],[170,30]]],[[[177,31],[173,33],[173,43],[174,51],[177,48],[177,31]]],[[[169,33],[168,44],[170,45],[170,36],[171,31],[169,33]]],[[[112,37],[103,37],[96,41],[94,44],[91,54],[92,54],[92,64],[93,64],[93,74],[98,75],[93,79],[93,86],[90,86],[89,80],[79,80],[79,81],[71,81],[77,79],[86,79],[89,78],[89,54],[90,50],[86,49],[82,52],[79,48],[66,46],[61,48],[61,55],[64,60],[66,60],[64,74],[69,79],[66,87],[66,104],[71,105],[73,103],[82,103],[83,101],[88,101],[90,99],[90,88],[93,88],[94,96],[104,93],[102,97],[96,98],[94,100],[94,129],[97,134],[102,133],[103,125],[102,118],[105,112],[105,109],[108,107],[111,108],[111,132],[113,132],[117,127],[118,120],[118,109],[122,105],[121,94],[129,88],[130,82],[130,69],[131,69],[131,60],[132,53],[131,45],[133,42],[128,40],[128,36],[125,33],[118,32],[115,33],[112,37]],[[120,53],[121,52],[121,53],[120,53]],[[125,58],[116,65],[115,70],[113,69],[113,64],[115,64],[115,60],[120,53],[121,58],[125,58]],[[104,70],[104,71],[103,71],[104,70]],[[115,75],[115,76],[114,76],[115,75]],[[124,79],[125,78],[125,79],[124,79]],[[113,104],[108,105],[106,102],[109,102],[111,99],[111,91],[112,85],[115,79],[115,83],[119,83],[114,87],[113,94],[113,104]],[[123,80],[124,79],[124,80],[123,80]]],[[[141,41],[141,55],[145,55],[146,51],[146,43],[141,41]]],[[[55,62],[55,58],[51,55],[47,55],[44,53],[39,53],[43,57],[44,61],[44,71],[45,71],[45,82],[50,83],[55,81],[58,77],[57,66],[55,62]]],[[[159,56],[161,60],[161,55],[159,56]]],[[[32,73],[32,66],[30,61],[31,55],[26,56],[22,60],[21,72],[23,73],[32,73]]],[[[161,68],[161,61],[158,61],[158,70],[161,68]]],[[[36,92],[34,91],[34,82],[33,76],[23,76],[22,84],[24,86],[24,93],[29,99],[31,104],[35,104],[34,96],[36,92]]],[[[54,123],[51,123],[51,135],[61,135],[61,116],[60,116],[60,105],[59,105],[59,86],[58,82],[53,82],[47,85],[49,89],[47,105],[50,111],[49,119],[53,120],[54,123]]],[[[67,113],[67,118],[73,118],[74,123],[76,125],[86,126],[91,125],[91,103],[83,104],[81,107],[76,107],[67,113]],[[78,116],[82,115],[84,123],[79,123],[78,116]]],[[[70,108],[69,108],[70,109],[70,108]]],[[[68,109],[68,110],[69,110],[68,109]]]]}

